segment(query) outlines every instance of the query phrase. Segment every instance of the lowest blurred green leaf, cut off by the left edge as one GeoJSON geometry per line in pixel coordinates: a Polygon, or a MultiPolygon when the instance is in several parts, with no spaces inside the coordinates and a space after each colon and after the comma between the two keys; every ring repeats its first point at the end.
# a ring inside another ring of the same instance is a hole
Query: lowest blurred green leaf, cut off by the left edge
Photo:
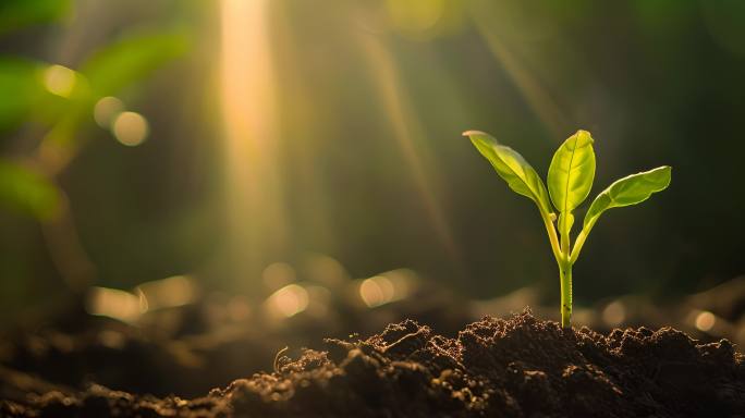
{"type": "Polygon", "coordinates": [[[0,205],[16,212],[46,220],[54,216],[60,190],[40,173],[0,160],[0,205]]]}

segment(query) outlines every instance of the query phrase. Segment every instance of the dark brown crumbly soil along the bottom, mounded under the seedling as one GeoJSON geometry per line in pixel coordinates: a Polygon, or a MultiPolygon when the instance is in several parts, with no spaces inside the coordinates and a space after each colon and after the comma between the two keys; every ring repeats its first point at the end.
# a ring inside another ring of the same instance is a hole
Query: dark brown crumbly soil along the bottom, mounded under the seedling
{"type": "Polygon", "coordinates": [[[325,343],[188,401],[76,391],[3,368],[0,416],[745,417],[745,356],[671,328],[603,335],[526,311],[454,339],[407,320],[325,343]]]}

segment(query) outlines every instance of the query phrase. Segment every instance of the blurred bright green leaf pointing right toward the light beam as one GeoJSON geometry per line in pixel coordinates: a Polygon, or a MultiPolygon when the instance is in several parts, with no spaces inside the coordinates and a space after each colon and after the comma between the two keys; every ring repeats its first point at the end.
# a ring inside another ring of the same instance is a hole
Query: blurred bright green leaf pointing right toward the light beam
{"type": "Polygon", "coordinates": [[[109,96],[183,54],[187,46],[181,30],[141,33],[105,46],[83,64],[81,72],[94,94],[109,96]]]}

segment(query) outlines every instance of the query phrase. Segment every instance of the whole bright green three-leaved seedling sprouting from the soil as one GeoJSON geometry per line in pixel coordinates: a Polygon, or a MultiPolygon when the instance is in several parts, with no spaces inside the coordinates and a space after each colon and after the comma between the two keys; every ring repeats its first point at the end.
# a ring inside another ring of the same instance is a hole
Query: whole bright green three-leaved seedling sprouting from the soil
{"type": "Polygon", "coordinates": [[[668,187],[671,167],[662,165],[628,175],[600,192],[585,213],[582,231],[574,244],[570,245],[572,225],[574,224],[572,212],[587,198],[595,179],[594,139],[590,133],[577,131],[559,147],[549,167],[548,192],[538,173],[515,150],[499,144],[489,134],[480,131],[467,131],[463,135],[471,138],[476,149],[491,162],[497,174],[508,182],[510,188],[526,196],[538,206],[538,211],[544,219],[551,242],[553,257],[559,265],[561,325],[570,328],[572,266],[577,261],[579,251],[587,241],[587,235],[606,210],[636,205],[647,200],[652,193],[668,187]],[[559,217],[557,217],[554,208],[559,212],[559,217]]]}

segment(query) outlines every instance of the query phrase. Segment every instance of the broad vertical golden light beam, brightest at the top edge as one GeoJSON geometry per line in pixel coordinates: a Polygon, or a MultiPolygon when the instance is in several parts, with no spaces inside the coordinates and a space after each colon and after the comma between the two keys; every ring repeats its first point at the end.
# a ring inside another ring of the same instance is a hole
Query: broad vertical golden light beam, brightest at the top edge
{"type": "Polygon", "coordinates": [[[221,102],[231,262],[254,276],[283,248],[268,0],[222,0],[221,102]]]}

